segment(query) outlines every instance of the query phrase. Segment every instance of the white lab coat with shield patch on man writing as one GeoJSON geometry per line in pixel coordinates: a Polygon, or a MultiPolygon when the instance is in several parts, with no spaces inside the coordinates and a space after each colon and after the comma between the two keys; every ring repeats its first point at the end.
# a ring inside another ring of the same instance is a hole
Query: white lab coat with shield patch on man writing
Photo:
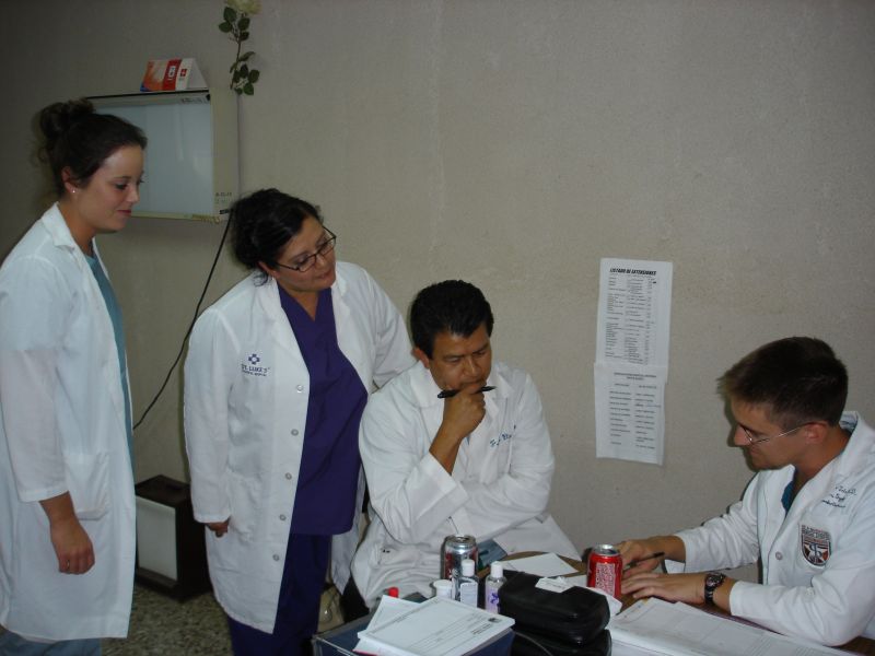
{"type": "Polygon", "coordinates": [[[805,483],[790,513],[781,496],[793,467],[761,471],[725,515],[677,534],[686,567],[669,562],[668,571],[736,567],[759,557],[765,585],[737,582],[734,616],[826,645],[875,637],[875,432],[855,412],[841,423],[853,431],[848,446],[805,483]]]}

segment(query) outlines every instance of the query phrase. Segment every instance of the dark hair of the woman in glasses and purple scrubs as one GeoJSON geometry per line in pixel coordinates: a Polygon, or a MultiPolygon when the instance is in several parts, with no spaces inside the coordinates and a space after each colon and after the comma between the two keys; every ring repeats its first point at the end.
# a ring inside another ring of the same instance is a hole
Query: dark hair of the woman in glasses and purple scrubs
{"type": "MultiPolygon", "coordinates": [[[[249,269],[258,262],[277,266],[277,257],[307,218],[322,223],[319,210],[305,200],[277,189],[260,189],[231,206],[231,245],[237,260],[249,269]]],[[[261,281],[267,274],[261,272],[261,281]]]]}

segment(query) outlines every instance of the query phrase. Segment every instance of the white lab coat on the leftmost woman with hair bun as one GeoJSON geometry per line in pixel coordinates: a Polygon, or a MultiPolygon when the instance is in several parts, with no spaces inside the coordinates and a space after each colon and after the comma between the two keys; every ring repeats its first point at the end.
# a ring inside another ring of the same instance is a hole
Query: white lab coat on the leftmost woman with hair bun
{"type": "Polygon", "coordinates": [[[57,206],[0,269],[0,624],[25,637],[124,637],[133,477],[113,324],[57,206]],[[94,546],[58,572],[39,501],[70,493],[94,546]]]}

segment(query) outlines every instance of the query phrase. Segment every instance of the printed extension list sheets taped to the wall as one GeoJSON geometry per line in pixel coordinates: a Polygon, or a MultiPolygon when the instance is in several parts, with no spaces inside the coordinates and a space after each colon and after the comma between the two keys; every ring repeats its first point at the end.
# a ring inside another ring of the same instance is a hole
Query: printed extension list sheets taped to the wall
{"type": "Polygon", "coordinates": [[[596,457],[663,464],[672,262],[602,260],[595,382],[596,457]]]}

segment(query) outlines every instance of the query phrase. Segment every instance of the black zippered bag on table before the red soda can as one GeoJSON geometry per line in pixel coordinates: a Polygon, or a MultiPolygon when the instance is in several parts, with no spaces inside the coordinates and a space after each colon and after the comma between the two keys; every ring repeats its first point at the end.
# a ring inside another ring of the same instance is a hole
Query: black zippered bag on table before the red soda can
{"type": "MultiPolygon", "coordinates": [[[[561,593],[542,590],[535,587],[539,576],[524,572],[508,574],[508,582],[499,590],[499,610],[514,619],[514,631],[574,648],[594,641],[610,620],[607,599],[598,593],[578,586],[561,593]]],[[[604,653],[610,653],[609,636],[604,653]]]]}

